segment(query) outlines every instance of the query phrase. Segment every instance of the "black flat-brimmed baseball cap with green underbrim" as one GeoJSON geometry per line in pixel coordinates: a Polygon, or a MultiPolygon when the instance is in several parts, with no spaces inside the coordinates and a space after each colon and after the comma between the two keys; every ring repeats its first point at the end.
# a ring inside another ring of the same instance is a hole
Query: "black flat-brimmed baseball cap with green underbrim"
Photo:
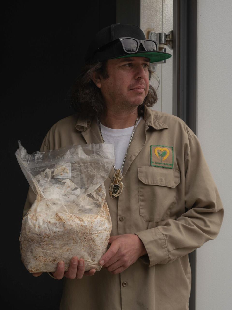
{"type": "Polygon", "coordinates": [[[107,59],[117,59],[124,57],[146,57],[150,63],[165,60],[171,54],[159,51],[146,51],[140,44],[138,51],[127,53],[122,47],[119,38],[129,37],[138,40],[145,40],[146,37],[140,27],[135,25],[114,24],[101,29],[93,38],[85,56],[86,63],[95,63],[107,59]]]}

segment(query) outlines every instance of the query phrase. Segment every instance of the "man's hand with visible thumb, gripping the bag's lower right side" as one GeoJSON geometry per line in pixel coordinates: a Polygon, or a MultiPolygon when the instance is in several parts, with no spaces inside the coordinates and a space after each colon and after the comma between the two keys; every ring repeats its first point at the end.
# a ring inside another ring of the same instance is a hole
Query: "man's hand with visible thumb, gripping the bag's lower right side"
{"type": "Polygon", "coordinates": [[[143,242],[137,235],[126,234],[110,237],[109,250],[100,259],[109,272],[117,274],[131,266],[142,255],[147,254],[143,242]]]}

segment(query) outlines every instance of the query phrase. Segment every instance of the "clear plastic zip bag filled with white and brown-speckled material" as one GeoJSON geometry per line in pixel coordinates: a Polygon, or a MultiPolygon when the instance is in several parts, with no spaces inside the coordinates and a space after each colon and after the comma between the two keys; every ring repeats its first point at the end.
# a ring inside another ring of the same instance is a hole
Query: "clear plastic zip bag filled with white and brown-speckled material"
{"type": "Polygon", "coordinates": [[[104,181],[114,164],[113,144],[70,145],[31,155],[20,144],[15,153],[36,194],[24,216],[20,253],[29,272],[54,272],[73,256],[85,270],[101,269],[112,223],[104,181]]]}

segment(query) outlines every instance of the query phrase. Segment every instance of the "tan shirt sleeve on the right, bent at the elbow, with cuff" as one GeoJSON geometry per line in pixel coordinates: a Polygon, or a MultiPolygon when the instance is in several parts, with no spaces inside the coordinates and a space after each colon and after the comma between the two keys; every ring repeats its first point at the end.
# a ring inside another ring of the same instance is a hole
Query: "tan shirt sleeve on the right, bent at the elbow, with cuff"
{"type": "Polygon", "coordinates": [[[148,255],[141,259],[149,267],[171,263],[216,238],[219,233],[224,215],[222,202],[194,134],[189,139],[184,168],[187,212],[175,220],[167,220],[164,225],[135,233],[147,250],[148,255]]]}

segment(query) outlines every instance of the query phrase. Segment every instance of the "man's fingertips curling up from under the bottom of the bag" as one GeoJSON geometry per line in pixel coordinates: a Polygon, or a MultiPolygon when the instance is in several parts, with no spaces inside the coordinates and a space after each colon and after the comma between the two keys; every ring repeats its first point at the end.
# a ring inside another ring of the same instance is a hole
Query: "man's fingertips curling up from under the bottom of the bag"
{"type": "MultiPolygon", "coordinates": [[[[59,262],[57,264],[56,271],[53,272],[53,276],[57,280],[61,280],[63,277],[68,279],[82,279],[83,275],[93,276],[96,269],[90,269],[89,271],[84,271],[84,259],[78,260],[78,257],[73,257],[70,261],[68,271],[64,272],[64,262],[59,262]]],[[[32,273],[34,277],[38,277],[42,272],[32,273]]]]}

